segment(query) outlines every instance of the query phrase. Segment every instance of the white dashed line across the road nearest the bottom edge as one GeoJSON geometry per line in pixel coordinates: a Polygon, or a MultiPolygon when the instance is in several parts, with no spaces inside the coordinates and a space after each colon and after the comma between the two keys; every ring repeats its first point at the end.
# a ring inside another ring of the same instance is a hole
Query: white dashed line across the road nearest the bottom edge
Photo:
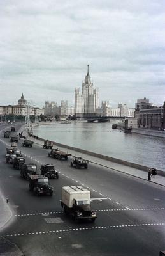
{"type": "Polygon", "coordinates": [[[84,228],[69,228],[62,230],[48,230],[40,232],[28,232],[28,233],[18,233],[18,234],[6,234],[2,235],[3,237],[11,236],[30,236],[30,235],[39,235],[39,234],[52,234],[58,232],[74,232],[74,231],[84,231],[84,230],[96,230],[96,229],[109,229],[109,228],[125,228],[125,227],[150,227],[150,226],[163,226],[165,223],[138,223],[138,224],[128,224],[128,225],[111,225],[111,226],[101,226],[101,227],[84,227],[84,228]]]}

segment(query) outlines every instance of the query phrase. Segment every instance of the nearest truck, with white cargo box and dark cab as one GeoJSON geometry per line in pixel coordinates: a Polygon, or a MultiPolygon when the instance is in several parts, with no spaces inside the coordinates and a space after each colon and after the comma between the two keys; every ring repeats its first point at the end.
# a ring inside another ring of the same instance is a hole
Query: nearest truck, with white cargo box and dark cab
{"type": "Polygon", "coordinates": [[[94,222],[96,212],[90,208],[90,191],[82,186],[62,187],[61,206],[65,214],[71,214],[75,221],[87,219],[94,222]]]}

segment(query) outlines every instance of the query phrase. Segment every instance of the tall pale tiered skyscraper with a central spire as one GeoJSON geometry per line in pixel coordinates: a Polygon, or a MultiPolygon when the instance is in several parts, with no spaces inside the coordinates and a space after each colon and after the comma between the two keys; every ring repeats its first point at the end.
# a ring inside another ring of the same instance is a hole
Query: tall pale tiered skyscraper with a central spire
{"type": "Polygon", "coordinates": [[[88,65],[87,75],[82,83],[82,94],[80,94],[80,88],[75,88],[75,116],[87,118],[96,115],[98,98],[98,88],[94,88],[91,82],[88,65]]]}

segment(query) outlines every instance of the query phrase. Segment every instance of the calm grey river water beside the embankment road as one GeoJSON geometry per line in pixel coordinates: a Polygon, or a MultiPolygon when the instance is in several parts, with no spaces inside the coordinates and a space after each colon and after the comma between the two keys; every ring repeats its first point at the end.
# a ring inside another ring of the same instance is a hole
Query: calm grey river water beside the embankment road
{"type": "Polygon", "coordinates": [[[115,157],[165,172],[165,138],[126,134],[111,123],[72,122],[34,127],[35,135],[76,148],[115,157]]]}

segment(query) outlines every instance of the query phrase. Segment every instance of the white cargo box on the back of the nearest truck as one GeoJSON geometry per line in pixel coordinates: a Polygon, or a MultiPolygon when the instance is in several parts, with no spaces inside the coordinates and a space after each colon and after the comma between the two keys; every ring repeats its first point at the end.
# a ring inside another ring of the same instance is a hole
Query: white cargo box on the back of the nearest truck
{"type": "Polygon", "coordinates": [[[74,200],[85,200],[86,204],[90,204],[90,191],[82,186],[62,187],[62,202],[71,208],[74,200]]]}

